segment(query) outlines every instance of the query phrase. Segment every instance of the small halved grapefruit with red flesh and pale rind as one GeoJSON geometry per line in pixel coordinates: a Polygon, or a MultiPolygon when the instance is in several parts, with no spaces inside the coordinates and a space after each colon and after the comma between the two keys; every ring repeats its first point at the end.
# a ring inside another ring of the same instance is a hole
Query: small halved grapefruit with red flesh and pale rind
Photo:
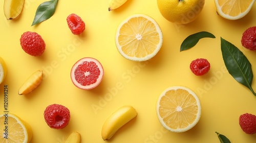
{"type": "Polygon", "coordinates": [[[84,90],[98,86],[103,78],[104,70],[101,63],[90,57],[78,60],[71,69],[73,84],[84,90]]]}

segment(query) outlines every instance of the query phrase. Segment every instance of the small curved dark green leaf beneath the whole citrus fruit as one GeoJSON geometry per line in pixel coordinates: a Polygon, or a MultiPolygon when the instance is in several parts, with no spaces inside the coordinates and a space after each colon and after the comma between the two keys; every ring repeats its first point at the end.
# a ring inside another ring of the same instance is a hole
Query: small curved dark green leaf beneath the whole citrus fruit
{"type": "Polygon", "coordinates": [[[191,47],[195,46],[198,41],[202,38],[215,38],[215,36],[209,32],[205,32],[205,31],[202,31],[202,32],[198,32],[198,33],[195,33],[195,34],[192,34],[192,35],[189,35],[182,43],[181,43],[181,46],[180,46],[180,52],[181,51],[184,51],[184,50],[188,50],[190,49],[191,47]]]}

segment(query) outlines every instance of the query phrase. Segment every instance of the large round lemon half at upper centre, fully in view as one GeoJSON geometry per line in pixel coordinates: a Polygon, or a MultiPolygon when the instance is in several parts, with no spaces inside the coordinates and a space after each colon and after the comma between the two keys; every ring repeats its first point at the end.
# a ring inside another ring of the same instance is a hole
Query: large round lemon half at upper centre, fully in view
{"type": "Polygon", "coordinates": [[[163,34],[158,23],[145,14],[134,14],[123,20],[116,31],[118,52],[132,61],[146,61],[161,49],[163,34]]]}

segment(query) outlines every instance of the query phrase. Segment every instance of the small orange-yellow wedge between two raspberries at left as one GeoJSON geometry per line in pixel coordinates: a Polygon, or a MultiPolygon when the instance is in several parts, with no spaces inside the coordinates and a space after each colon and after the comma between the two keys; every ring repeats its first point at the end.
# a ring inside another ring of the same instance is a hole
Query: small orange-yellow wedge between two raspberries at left
{"type": "Polygon", "coordinates": [[[19,88],[18,94],[28,94],[33,91],[42,81],[42,70],[36,70],[19,88]]]}

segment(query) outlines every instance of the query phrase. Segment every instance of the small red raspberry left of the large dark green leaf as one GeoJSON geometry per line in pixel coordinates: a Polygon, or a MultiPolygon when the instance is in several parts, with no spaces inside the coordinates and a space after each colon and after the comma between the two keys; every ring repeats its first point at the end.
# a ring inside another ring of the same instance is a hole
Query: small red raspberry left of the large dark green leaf
{"type": "Polygon", "coordinates": [[[203,76],[210,70],[210,63],[203,58],[193,60],[190,63],[190,69],[196,76],[203,76]]]}

